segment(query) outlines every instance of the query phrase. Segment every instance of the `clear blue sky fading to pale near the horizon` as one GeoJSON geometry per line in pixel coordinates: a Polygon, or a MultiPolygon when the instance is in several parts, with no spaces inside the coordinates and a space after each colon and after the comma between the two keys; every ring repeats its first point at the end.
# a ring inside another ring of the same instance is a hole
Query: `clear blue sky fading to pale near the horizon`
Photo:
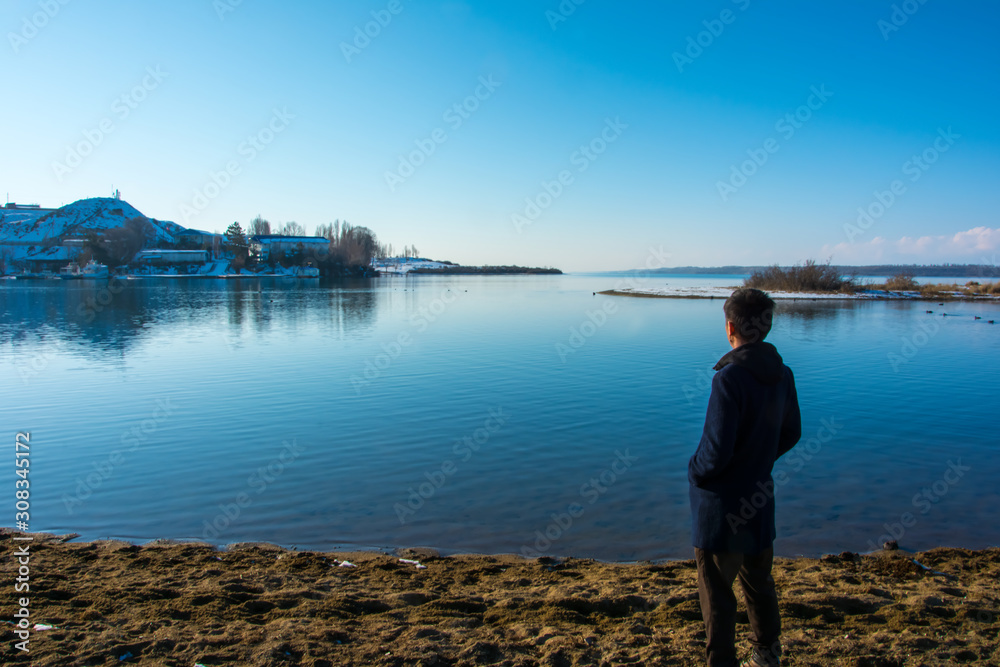
{"type": "Polygon", "coordinates": [[[580,1],[7,0],[0,185],[467,264],[997,263],[996,3],[580,1]]]}

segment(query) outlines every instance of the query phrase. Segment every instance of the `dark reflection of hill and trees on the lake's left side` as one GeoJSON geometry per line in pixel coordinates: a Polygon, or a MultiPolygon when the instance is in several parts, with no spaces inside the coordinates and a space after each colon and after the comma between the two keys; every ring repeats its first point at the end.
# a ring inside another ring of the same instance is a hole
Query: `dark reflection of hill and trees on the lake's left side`
{"type": "Polygon", "coordinates": [[[0,287],[0,344],[15,353],[68,346],[92,358],[123,357],[163,328],[226,323],[238,345],[277,326],[320,318],[333,337],[374,327],[385,292],[369,280],[5,281],[0,287]]]}

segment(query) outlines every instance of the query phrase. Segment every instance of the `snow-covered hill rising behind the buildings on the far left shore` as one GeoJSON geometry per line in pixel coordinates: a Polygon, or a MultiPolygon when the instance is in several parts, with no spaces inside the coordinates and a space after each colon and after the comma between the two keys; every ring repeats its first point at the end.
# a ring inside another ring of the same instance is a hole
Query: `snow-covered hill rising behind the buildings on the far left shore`
{"type": "MultiPolygon", "coordinates": [[[[132,218],[145,218],[128,202],[110,197],[81,199],[55,211],[0,208],[0,245],[51,245],[82,238],[88,231],[121,227],[132,218]]],[[[173,242],[184,227],[149,219],[157,240],[173,242]]]]}

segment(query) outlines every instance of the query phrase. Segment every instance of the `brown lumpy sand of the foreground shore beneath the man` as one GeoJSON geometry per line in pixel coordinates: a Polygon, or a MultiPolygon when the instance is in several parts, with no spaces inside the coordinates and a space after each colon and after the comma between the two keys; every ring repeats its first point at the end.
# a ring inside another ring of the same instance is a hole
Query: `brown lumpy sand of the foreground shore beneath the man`
{"type": "MultiPolygon", "coordinates": [[[[13,592],[21,544],[0,534],[3,619],[23,595],[13,592]]],[[[30,549],[31,623],[55,627],[33,632],[24,654],[2,624],[5,665],[703,664],[693,561],[48,536],[30,549]]],[[[775,580],[785,664],[1000,664],[1000,549],[779,559],[775,580]]]]}

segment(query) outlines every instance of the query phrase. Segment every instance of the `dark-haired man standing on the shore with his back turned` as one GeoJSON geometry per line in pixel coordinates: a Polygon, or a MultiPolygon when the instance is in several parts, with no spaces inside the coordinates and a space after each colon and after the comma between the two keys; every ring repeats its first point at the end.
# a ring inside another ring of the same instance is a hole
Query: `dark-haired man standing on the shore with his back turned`
{"type": "Polygon", "coordinates": [[[771,297],[741,288],[723,310],[733,350],[715,365],[705,428],[688,463],[706,653],[710,667],[737,665],[733,582],[739,577],[753,646],[741,664],[777,667],[781,618],[771,577],[771,469],[801,437],[799,403],[792,371],[764,342],[774,314],[771,297]]]}

